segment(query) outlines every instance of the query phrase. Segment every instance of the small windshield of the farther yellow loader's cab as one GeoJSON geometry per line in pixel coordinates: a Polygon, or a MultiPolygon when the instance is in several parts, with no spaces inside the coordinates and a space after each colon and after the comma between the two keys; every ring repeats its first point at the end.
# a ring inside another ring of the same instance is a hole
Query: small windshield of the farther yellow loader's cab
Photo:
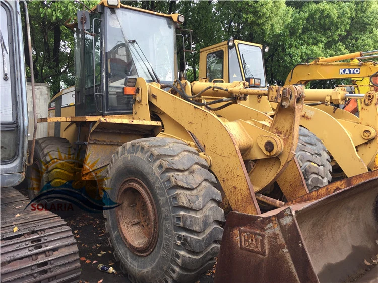
{"type": "Polygon", "coordinates": [[[266,86],[263,53],[260,47],[238,44],[241,65],[246,78],[261,79],[261,87],[266,86]]]}

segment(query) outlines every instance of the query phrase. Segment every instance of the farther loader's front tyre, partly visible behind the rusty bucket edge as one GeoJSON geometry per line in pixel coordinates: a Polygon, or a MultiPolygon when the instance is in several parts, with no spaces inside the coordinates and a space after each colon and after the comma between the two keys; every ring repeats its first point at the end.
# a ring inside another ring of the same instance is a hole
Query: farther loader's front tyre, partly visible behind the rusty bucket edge
{"type": "Polygon", "coordinates": [[[298,146],[295,151],[309,191],[331,182],[331,159],[321,140],[306,128],[299,127],[298,146]]]}

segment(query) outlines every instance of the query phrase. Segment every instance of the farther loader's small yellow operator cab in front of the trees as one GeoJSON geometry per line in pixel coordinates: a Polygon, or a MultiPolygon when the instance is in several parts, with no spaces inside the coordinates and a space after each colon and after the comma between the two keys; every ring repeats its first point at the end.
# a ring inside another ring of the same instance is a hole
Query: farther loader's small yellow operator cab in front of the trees
{"type": "Polygon", "coordinates": [[[250,87],[267,87],[263,46],[228,40],[200,50],[199,77],[209,82],[251,82],[250,87]],[[248,79],[250,78],[250,79],[248,79]]]}

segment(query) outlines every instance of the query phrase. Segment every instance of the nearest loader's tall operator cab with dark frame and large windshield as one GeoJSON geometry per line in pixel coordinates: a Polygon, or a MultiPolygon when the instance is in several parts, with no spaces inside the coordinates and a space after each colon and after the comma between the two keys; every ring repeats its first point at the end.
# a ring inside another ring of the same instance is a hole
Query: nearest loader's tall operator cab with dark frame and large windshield
{"type": "Polygon", "coordinates": [[[117,5],[105,1],[86,12],[84,29],[78,11],[76,116],[131,114],[133,96],[123,93],[125,86],[138,77],[148,83],[177,77],[175,23],[184,17],[112,2],[117,5]]]}

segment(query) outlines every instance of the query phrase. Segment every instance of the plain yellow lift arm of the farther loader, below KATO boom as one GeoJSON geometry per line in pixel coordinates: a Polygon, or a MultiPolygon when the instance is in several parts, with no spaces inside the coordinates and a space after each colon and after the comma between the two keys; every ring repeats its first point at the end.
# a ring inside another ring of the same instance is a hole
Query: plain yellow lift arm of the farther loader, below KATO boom
{"type": "Polygon", "coordinates": [[[304,105],[303,109],[300,124],[322,140],[348,177],[367,172],[366,164],[357,154],[353,140],[335,118],[308,105],[304,105]],[[335,143],[336,138],[339,143],[335,143]]]}

